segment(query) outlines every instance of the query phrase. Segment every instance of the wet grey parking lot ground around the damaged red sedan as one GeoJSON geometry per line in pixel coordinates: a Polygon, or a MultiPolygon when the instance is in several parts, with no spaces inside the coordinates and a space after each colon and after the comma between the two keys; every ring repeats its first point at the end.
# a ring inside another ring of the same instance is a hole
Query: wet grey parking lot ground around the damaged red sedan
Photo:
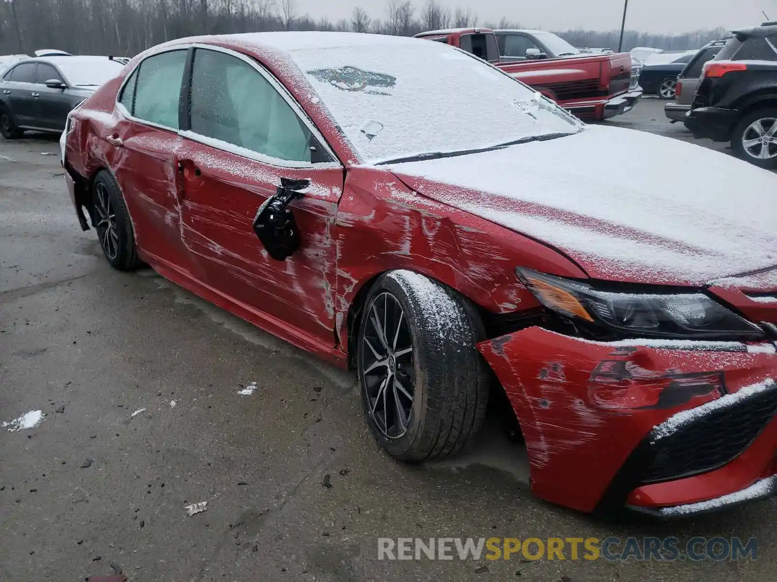
{"type": "MultiPolygon", "coordinates": [[[[645,99],[607,123],[692,140],[663,106],[645,99]]],[[[110,269],[93,231],[78,228],[55,137],[0,139],[0,386],[0,421],[45,414],[36,428],[0,430],[0,580],[120,568],[129,580],[760,582],[777,569],[777,501],[667,524],[598,521],[531,497],[524,449],[493,417],[458,459],[394,462],[362,421],[354,375],[148,269],[110,269]],[[199,501],[207,511],[188,517],[199,501]],[[377,551],[378,537],[611,535],[755,536],[758,559],[377,551]]]]}

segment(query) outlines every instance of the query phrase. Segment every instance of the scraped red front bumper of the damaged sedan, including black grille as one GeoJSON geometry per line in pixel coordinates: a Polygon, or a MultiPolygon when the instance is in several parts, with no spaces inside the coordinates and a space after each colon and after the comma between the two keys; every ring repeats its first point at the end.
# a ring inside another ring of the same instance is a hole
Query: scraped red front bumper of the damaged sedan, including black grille
{"type": "Polygon", "coordinates": [[[529,327],[479,344],[521,424],[535,495],[671,516],[747,499],[777,475],[774,346],[647,343],[529,327]],[[716,375],[720,393],[698,390],[716,375]],[[660,397],[646,403],[646,392],[660,397]]]}

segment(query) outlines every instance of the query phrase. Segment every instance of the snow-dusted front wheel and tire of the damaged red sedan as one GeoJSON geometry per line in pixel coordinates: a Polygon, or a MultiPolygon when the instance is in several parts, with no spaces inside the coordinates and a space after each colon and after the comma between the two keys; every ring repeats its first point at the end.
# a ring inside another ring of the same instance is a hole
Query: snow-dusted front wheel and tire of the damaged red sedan
{"type": "Polygon", "coordinates": [[[476,348],[483,336],[475,307],[453,289],[409,271],[388,272],[375,282],[359,326],[357,369],[364,414],[378,445],[408,462],[443,459],[462,449],[483,425],[488,404],[486,363],[476,348]],[[376,315],[390,346],[375,333],[376,315]],[[385,371],[371,370],[383,355],[385,371]],[[380,401],[381,386],[394,379],[412,399],[392,386],[380,401]],[[404,431],[401,405],[409,406],[404,431]],[[386,409],[392,411],[390,425],[386,409]]]}

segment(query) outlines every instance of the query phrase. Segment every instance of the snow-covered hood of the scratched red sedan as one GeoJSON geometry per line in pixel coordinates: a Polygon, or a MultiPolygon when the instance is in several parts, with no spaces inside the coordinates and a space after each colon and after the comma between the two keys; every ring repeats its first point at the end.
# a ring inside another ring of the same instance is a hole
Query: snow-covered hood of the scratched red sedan
{"type": "Polygon", "coordinates": [[[410,188],[542,241],[589,276],[702,285],[777,265],[777,175],[636,130],[389,165],[410,188]]]}

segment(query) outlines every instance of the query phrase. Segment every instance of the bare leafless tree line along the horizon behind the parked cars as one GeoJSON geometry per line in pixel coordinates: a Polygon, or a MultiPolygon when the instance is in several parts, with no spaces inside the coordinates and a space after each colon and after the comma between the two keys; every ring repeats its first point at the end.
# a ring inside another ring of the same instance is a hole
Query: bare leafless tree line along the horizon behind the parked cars
{"type": "MultiPolygon", "coordinates": [[[[437,0],[423,0],[420,6],[388,0],[380,15],[357,7],[350,18],[336,22],[301,14],[296,0],[0,0],[0,54],[56,48],[73,54],[134,56],[166,40],[199,34],[350,30],[412,36],[448,26],[522,27],[520,20],[507,17],[482,22],[471,9],[447,9],[437,0]]],[[[618,47],[618,30],[556,32],[576,47],[618,47]]],[[[690,49],[725,33],[722,28],[680,35],[628,30],[623,49],[690,49]]]]}

